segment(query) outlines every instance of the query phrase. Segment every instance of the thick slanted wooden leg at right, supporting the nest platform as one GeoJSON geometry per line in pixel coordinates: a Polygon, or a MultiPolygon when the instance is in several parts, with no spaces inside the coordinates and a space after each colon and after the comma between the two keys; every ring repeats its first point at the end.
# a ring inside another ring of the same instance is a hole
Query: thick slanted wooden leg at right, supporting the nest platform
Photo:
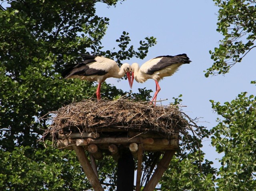
{"type": "Polygon", "coordinates": [[[160,178],[164,174],[164,171],[168,168],[172,157],[174,156],[175,150],[166,151],[164,156],[159,161],[156,170],[154,171],[152,177],[145,186],[144,191],[153,191],[158,184],[160,178]]]}

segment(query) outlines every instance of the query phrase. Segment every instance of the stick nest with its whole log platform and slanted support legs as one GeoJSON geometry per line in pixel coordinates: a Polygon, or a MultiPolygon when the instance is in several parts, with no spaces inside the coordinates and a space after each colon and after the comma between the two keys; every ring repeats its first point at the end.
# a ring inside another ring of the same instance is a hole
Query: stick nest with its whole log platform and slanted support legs
{"type": "Polygon", "coordinates": [[[104,189],[98,180],[95,159],[101,160],[104,155],[112,155],[118,161],[118,191],[133,190],[133,179],[127,178],[127,174],[134,175],[134,166],[126,169],[129,155],[131,163],[137,161],[136,191],[142,184],[144,191],[153,191],[179,149],[179,135],[188,135],[187,130],[195,125],[176,105],[154,106],[128,99],[84,100],[49,114],[54,115],[53,122],[41,140],[51,135],[59,149],[74,149],[92,187],[99,191],[104,189]],[[84,151],[89,152],[90,161],[84,151]],[[154,161],[158,161],[156,169],[154,161]]]}

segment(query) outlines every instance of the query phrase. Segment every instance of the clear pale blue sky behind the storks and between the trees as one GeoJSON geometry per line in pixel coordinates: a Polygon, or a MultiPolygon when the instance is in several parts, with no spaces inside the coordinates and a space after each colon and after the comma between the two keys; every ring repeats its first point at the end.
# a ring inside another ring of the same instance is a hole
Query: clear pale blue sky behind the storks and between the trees
{"type": "MultiPolygon", "coordinates": [[[[191,118],[201,117],[198,125],[208,129],[214,127],[216,118],[220,117],[211,108],[210,99],[214,101],[231,101],[241,92],[256,94],[254,52],[250,52],[241,64],[234,66],[225,76],[204,77],[204,70],[212,66],[209,50],[218,47],[222,35],[216,32],[218,22],[218,7],[213,1],[206,0],[126,0],[116,7],[108,8],[106,4],[96,4],[98,16],[110,18],[110,25],[106,36],[102,40],[104,50],[117,48],[116,39],[123,31],[129,32],[131,43],[138,48],[139,41],[147,36],[154,36],[157,44],[150,48],[144,60],[133,58],[127,60],[129,64],[137,62],[142,65],[147,60],[161,55],[176,55],[186,53],[192,62],[184,64],[171,77],[160,81],[161,91],[158,99],[168,99],[163,105],[172,102],[172,97],[182,94],[182,107],[191,118]]],[[[117,88],[129,91],[128,82],[110,78],[107,83],[117,88]]],[[[155,90],[155,82],[148,80],[144,84],[134,81],[133,91],[138,88],[155,90]]],[[[153,95],[154,93],[152,93],[153,95]]],[[[216,158],[220,157],[210,146],[210,139],[203,142],[206,158],[214,161],[214,167],[220,164],[216,158]]]]}

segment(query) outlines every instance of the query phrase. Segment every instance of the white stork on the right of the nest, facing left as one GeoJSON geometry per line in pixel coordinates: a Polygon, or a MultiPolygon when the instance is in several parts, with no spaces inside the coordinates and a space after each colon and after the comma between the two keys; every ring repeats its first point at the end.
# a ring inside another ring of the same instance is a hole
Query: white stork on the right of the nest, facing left
{"type": "Polygon", "coordinates": [[[166,76],[172,76],[172,74],[178,70],[180,65],[189,64],[190,62],[191,61],[186,54],[178,54],[176,56],[158,56],[148,60],[142,64],[141,67],[139,67],[137,63],[133,63],[131,66],[131,86],[134,78],[139,83],[143,83],[148,79],[155,80],[156,92],[150,102],[152,103],[155,101],[156,104],[157,94],[161,90],[158,82],[166,76]]]}

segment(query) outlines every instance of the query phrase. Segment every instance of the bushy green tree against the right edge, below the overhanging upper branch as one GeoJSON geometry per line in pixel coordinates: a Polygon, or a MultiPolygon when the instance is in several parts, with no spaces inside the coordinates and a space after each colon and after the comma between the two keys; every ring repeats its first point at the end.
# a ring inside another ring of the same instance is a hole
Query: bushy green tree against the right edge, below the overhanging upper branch
{"type": "Polygon", "coordinates": [[[222,116],[212,129],[212,145],[218,153],[221,167],[217,173],[218,190],[254,190],[256,187],[256,101],[243,92],[236,99],[212,108],[222,116]]]}

